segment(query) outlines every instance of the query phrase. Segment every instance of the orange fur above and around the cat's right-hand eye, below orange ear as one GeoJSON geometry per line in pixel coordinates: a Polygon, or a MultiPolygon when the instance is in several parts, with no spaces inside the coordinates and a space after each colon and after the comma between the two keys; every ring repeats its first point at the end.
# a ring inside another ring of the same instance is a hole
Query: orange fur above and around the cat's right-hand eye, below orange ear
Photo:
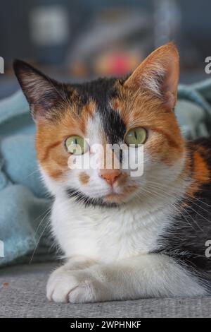
{"type": "Polygon", "coordinates": [[[142,126],[148,129],[145,148],[156,160],[173,165],[184,155],[184,139],[173,111],[167,109],[162,100],[146,93],[117,85],[119,98],[111,100],[113,109],[120,113],[127,131],[142,126]],[[117,108],[115,108],[117,107],[117,108]]]}

